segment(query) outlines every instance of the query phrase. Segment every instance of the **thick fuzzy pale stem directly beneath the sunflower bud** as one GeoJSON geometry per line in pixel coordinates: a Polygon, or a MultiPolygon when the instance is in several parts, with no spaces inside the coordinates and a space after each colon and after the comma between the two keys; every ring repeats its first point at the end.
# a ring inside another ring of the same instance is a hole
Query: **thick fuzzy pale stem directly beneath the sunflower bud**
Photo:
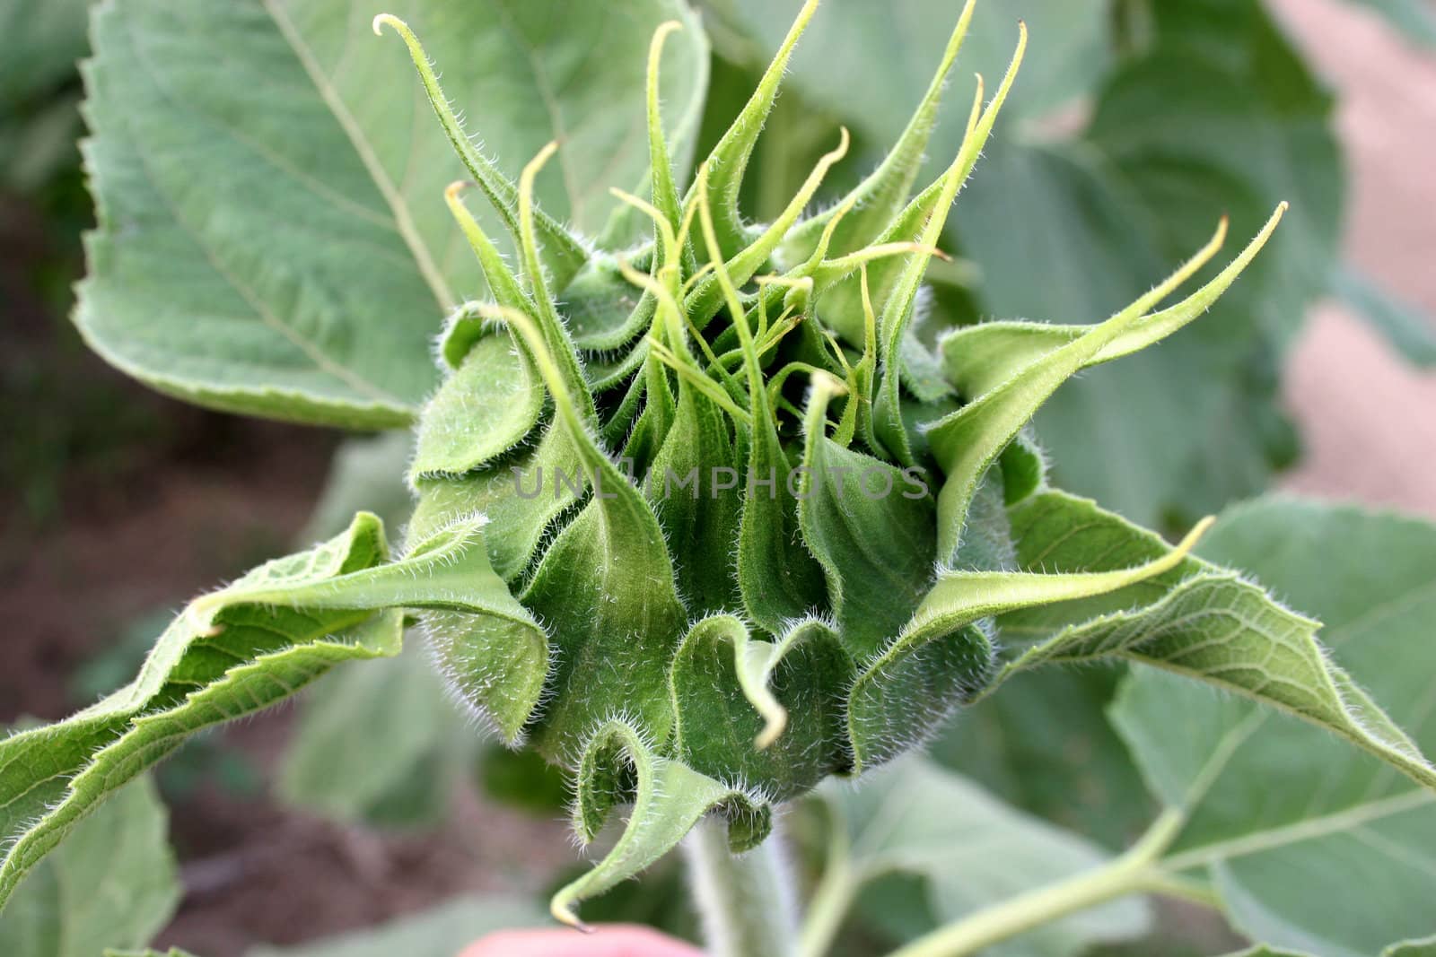
{"type": "Polygon", "coordinates": [[[777,831],[742,855],[709,816],[684,841],[694,898],[711,957],[791,957],[797,947],[793,882],[777,831]]]}

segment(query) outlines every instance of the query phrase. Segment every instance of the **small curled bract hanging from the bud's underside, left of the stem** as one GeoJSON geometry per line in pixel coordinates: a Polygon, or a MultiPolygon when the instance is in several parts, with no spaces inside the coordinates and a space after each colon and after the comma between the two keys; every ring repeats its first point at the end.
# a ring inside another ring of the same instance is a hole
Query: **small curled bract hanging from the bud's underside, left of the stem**
{"type": "Polygon", "coordinates": [[[622,720],[602,725],[583,749],[573,828],[593,841],[617,805],[633,806],[613,849],[587,874],[554,894],[549,910],[583,927],[574,907],[646,869],[671,851],[707,814],[728,818],[734,852],[758,845],[771,826],[768,806],[755,796],[658,755],[643,733],[622,720]]]}

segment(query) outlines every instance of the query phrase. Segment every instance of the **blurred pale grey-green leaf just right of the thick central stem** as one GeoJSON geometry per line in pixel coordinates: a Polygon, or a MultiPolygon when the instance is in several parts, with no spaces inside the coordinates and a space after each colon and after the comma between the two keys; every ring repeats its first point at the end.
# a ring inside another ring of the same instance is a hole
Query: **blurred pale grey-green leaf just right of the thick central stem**
{"type": "MultiPolygon", "coordinates": [[[[890,874],[920,878],[933,924],[946,924],[1109,858],[1090,841],[1002,803],[971,781],[922,759],[903,759],[860,788],[820,791],[839,831],[839,867],[849,894],[890,874]]],[[[869,913],[872,913],[869,910],[869,913]]],[[[1099,941],[1146,933],[1140,900],[1054,921],[991,948],[994,957],[1066,957],[1099,941]]],[[[989,951],[984,951],[989,953],[989,951]]]]}

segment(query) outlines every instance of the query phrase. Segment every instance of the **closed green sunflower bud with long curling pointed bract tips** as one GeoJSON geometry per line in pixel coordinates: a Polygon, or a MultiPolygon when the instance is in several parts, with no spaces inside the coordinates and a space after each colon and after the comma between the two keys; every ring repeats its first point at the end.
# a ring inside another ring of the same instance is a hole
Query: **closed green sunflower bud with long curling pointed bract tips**
{"type": "MultiPolygon", "coordinates": [[[[951,334],[923,360],[923,376],[942,377],[935,389],[903,366],[920,349],[909,341],[915,303],[928,264],[943,257],[948,211],[1012,89],[1027,30],[1018,27],[988,103],[978,77],[956,156],[918,195],[908,194],[971,0],[883,164],[804,218],[846,155],[841,131],[781,214],[750,227],[738,209],[742,176],[814,7],[803,7],[682,197],[658,109],[663,42],[676,26],[658,27],[648,55],[649,194],[612,191],[652,220],[652,242],[596,250],[573,288],[574,273],[553,257],[564,242],[550,237],[553,221],[534,201],[534,179],[557,146],[527,164],[517,185],[495,178],[472,156],[437,83],[429,88],[418,42],[401,30],[455,146],[497,198],[521,267],[510,270],[464,208],[462,185],[452,187],[445,199],[494,301],[465,304],[442,343],[452,373],[429,409],[468,415],[470,428],[425,423],[438,452],[419,461],[411,535],[422,541],[461,517],[488,515],[490,531],[503,532],[490,537],[490,558],[514,607],[541,624],[547,660],[523,682],[497,680],[505,673],[491,657],[498,646],[465,643],[451,617],[437,624],[438,634],[460,636],[445,667],[511,740],[523,736],[577,776],[580,836],[592,838],[617,805],[633,808],[613,851],[556,895],[564,921],[576,923],[582,900],[646,867],[702,815],[724,814],[740,842],[757,841],[770,803],[922,740],[992,680],[995,616],[1133,583],[1152,590],[1192,561],[1189,538],[1132,568],[1044,574],[965,567],[972,552],[959,545],[969,522],[1004,508],[988,501],[991,489],[974,508],[984,479],[1011,508],[1038,494],[1041,458],[1025,436],[1014,442],[1038,406],[1076,372],[1136,352],[1209,307],[1279,211],[1178,306],[1153,311],[1216,253],[1222,230],[1097,326],[994,323],[951,334]],[[570,334],[582,320],[576,301],[620,319],[570,334]],[[493,422],[494,435],[470,439],[472,422],[493,422]],[[454,448],[464,442],[474,455],[454,448]]],[[[984,525],[978,541],[1004,528],[984,525]]]]}

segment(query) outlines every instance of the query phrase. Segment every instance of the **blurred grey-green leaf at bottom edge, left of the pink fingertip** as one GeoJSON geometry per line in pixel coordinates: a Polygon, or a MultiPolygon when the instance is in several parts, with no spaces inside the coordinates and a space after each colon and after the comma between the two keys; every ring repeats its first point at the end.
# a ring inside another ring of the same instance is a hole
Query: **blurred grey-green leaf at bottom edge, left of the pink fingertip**
{"type": "Polygon", "coordinates": [[[253,947],[246,957],[454,957],[484,934],[543,923],[524,898],[457,897],[379,927],[296,947],[253,947]]]}

